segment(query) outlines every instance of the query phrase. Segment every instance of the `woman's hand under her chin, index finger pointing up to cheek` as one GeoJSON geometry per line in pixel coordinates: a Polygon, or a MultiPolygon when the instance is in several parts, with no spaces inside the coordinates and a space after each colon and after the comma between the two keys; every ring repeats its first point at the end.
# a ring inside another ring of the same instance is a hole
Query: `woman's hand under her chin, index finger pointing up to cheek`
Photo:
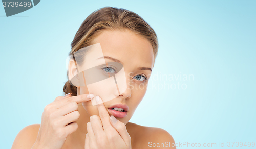
{"type": "Polygon", "coordinates": [[[131,137],[125,124],[109,116],[99,96],[96,96],[96,102],[101,103],[97,104],[99,116],[91,116],[87,123],[85,148],[131,149],[131,137]]]}

